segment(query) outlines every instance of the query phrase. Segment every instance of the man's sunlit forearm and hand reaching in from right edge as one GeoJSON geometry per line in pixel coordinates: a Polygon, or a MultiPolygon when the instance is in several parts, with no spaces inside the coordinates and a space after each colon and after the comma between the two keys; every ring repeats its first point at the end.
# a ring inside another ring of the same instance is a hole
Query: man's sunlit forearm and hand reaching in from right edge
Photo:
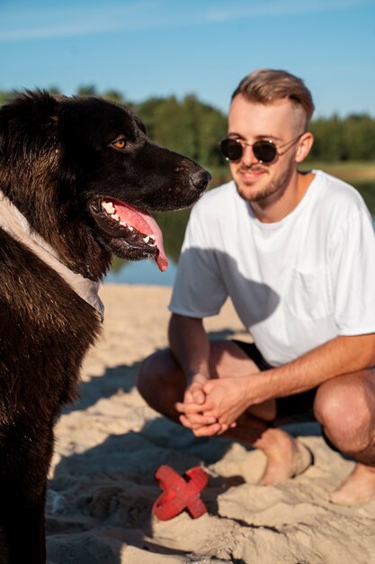
{"type": "MultiPolygon", "coordinates": [[[[279,368],[249,377],[210,380],[203,386],[206,402],[201,410],[230,425],[250,405],[298,394],[374,365],[374,333],[339,336],[279,368]]],[[[192,409],[193,405],[186,405],[183,411],[189,414],[192,409]]]]}

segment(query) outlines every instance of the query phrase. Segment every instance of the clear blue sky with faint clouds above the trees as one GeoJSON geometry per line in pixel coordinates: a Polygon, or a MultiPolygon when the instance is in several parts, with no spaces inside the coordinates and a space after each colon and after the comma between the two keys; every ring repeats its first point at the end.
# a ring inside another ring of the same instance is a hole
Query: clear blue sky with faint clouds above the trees
{"type": "Polygon", "coordinates": [[[375,116],[375,0],[0,0],[0,89],[194,93],[228,109],[255,68],[302,77],[316,117],[375,116]]]}

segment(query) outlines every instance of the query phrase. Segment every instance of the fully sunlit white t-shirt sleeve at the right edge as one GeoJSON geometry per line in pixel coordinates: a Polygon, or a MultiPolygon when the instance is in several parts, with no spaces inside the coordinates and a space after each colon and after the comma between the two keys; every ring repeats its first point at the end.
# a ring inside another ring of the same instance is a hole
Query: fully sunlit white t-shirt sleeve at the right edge
{"type": "Polygon", "coordinates": [[[375,332],[375,232],[367,210],[335,233],[330,256],[338,334],[375,332]]]}

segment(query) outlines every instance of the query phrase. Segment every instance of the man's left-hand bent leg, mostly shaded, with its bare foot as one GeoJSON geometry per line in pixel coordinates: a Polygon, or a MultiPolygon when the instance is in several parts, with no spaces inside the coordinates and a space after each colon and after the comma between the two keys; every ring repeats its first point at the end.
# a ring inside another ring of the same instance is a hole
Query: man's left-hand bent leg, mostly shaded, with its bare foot
{"type": "MultiPolygon", "coordinates": [[[[212,378],[249,376],[259,368],[244,350],[232,341],[211,341],[210,374],[212,378]]],[[[162,350],[142,363],[138,374],[138,391],[157,412],[179,423],[174,409],[183,400],[186,379],[170,350],[162,350]]],[[[308,449],[281,429],[270,428],[276,415],[275,402],[250,407],[237,420],[237,427],[226,436],[263,450],[267,465],[260,483],[272,485],[297,476],[311,463],[308,449]]]]}

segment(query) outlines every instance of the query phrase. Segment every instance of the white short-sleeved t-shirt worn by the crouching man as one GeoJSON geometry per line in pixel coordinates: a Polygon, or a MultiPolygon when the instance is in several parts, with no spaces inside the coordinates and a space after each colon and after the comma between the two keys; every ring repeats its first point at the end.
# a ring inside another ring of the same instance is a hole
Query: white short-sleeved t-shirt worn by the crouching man
{"type": "Polygon", "coordinates": [[[279,366],[335,338],[375,332],[375,232],[362,196],[315,170],[299,205],[261,223],[233,181],[194,205],[169,309],[203,318],[230,296],[279,366]]]}

